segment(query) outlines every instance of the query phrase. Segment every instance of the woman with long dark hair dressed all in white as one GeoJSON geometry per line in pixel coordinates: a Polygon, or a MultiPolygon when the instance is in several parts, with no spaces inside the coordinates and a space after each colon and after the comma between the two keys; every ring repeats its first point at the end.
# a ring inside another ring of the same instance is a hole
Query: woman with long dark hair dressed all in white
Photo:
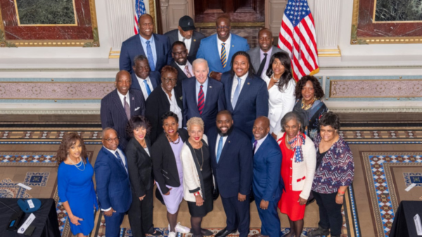
{"type": "Polygon", "coordinates": [[[295,106],[296,82],[290,72],[290,56],[285,51],[274,53],[269,65],[263,79],[269,94],[269,132],[275,139],[281,131],[281,119],[295,106]]]}

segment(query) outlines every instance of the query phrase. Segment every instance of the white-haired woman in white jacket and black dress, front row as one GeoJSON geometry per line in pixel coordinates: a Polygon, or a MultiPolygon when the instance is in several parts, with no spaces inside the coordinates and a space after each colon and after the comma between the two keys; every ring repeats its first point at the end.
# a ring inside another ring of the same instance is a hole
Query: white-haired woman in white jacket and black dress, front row
{"type": "Polygon", "coordinates": [[[211,236],[212,231],[201,229],[203,217],[213,209],[212,167],[204,122],[200,117],[191,117],[187,122],[189,139],[181,148],[183,167],[184,199],[191,214],[193,236],[211,236]]]}

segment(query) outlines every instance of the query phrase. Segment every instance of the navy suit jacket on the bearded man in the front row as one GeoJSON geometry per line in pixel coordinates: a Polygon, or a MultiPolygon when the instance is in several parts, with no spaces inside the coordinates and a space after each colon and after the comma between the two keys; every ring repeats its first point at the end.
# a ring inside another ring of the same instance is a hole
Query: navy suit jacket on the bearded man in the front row
{"type": "Polygon", "coordinates": [[[218,146],[217,128],[212,127],[207,136],[212,172],[221,196],[231,198],[237,196],[238,193],[248,195],[253,174],[252,146],[248,136],[235,127],[224,143],[218,164],[215,154],[216,146],[218,146]]]}

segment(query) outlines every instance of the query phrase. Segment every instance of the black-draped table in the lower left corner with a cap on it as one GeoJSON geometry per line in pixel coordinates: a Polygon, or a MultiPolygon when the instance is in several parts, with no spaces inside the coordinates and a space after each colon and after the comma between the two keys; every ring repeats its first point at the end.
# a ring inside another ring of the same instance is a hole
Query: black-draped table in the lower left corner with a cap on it
{"type": "MultiPolygon", "coordinates": [[[[0,198],[0,202],[13,208],[15,211],[19,211],[18,205],[19,198],[0,198]]],[[[35,226],[36,229],[32,233],[31,237],[60,237],[60,231],[58,229],[58,220],[56,212],[56,203],[53,198],[39,198],[41,200],[41,207],[36,212],[32,212],[35,215],[34,222],[31,226],[35,226]]],[[[15,213],[5,205],[0,203],[0,236],[1,237],[23,237],[23,233],[17,231],[7,231],[6,227],[12,214],[15,213]]],[[[25,213],[25,217],[20,224],[23,224],[30,213],[25,213]]]]}

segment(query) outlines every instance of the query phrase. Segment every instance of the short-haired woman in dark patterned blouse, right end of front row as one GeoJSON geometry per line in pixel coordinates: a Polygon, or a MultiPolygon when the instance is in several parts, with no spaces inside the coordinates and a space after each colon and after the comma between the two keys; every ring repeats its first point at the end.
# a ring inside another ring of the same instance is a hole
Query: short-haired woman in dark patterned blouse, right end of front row
{"type": "Polygon", "coordinates": [[[312,184],[312,193],[319,206],[319,224],[318,229],[310,231],[308,236],[328,236],[331,232],[332,237],[339,237],[343,225],[341,207],[354,177],[353,155],[347,142],[338,134],[338,115],[332,112],[322,115],[319,128],[314,139],[316,172],[312,184]]]}

